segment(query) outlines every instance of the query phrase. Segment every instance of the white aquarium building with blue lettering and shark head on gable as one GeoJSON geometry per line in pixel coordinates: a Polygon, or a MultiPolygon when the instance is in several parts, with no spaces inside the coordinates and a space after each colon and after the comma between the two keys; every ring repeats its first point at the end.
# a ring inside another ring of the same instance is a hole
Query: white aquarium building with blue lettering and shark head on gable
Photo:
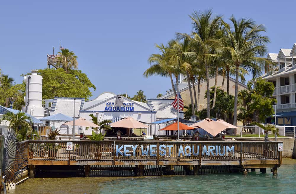
{"type": "MultiPolygon", "coordinates": [[[[111,123],[113,123],[125,117],[132,117],[149,126],[146,131],[148,134],[155,134],[154,132],[149,132],[153,130],[151,129],[152,123],[163,119],[177,118],[177,111],[171,105],[173,100],[148,99],[148,102],[145,103],[134,101],[112,92],[104,92],[94,100],[87,102],[83,98],[76,98],[75,118],[91,120],[89,115],[93,114],[98,118],[99,122],[110,119],[111,123]]],[[[45,108],[46,110],[48,109],[49,115],[62,113],[73,117],[74,98],[55,97],[51,102],[52,105],[45,108]]],[[[183,112],[181,112],[180,118],[183,117],[183,112]]],[[[66,126],[62,124],[60,126],[60,134],[71,133],[71,129],[66,129],[66,126]]],[[[91,134],[92,129],[82,129],[84,134],[91,134]]],[[[75,128],[75,133],[78,134],[78,126],[75,128]]]]}

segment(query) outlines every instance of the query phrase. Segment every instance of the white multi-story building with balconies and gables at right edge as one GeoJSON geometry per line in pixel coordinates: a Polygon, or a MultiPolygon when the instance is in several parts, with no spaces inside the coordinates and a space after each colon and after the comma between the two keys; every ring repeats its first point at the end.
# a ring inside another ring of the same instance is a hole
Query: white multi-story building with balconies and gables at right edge
{"type": "Polygon", "coordinates": [[[268,53],[268,59],[276,62],[278,68],[268,73],[266,68],[263,79],[274,83],[273,97],[277,100],[277,124],[296,125],[296,43],[292,49],[280,49],[279,53],[268,53]]]}

